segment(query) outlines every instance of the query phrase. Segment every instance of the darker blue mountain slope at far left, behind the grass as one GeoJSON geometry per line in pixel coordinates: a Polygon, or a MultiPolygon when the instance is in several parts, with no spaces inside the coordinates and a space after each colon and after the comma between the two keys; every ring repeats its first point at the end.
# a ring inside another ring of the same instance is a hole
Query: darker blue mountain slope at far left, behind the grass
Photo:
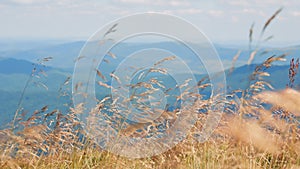
{"type": "Polygon", "coordinates": [[[23,101],[20,105],[24,109],[21,111],[33,112],[43,105],[49,105],[53,109],[63,108],[63,104],[60,102],[70,102],[70,97],[60,97],[60,94],[64,92],[61,89],[63,83],[69,76],[71,76],[71,72],[61,68],[34,65],[25,60],[1,58],[0,127],[12,120],[23,91],[23,101]],[[35,69],[35,73],[32,76],[33,69],[35,69]],[[58,92],[59,90],[62,92],[58,92]]]}

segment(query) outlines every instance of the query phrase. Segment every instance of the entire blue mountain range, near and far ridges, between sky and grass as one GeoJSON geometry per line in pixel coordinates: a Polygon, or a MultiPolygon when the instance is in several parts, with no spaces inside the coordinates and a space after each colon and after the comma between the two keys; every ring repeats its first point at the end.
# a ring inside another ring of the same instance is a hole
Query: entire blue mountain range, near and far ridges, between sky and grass
{"type": "MultiPolygon", "coordinates": [[[[21,93],[28,79],[30,79],[30,83],[24,93],[22,103],[24,110],[33,112],[45,105],[49,105],[52,109],[58,107],[67,109],[64,104],[71,102],[71,81],[67,86],[63,86],[63,84],[68,77],[72,76],[74,61],[83,45],[84,42],[74,42],[50,47],[40,47],[37,49],[0,50],[0,127],[13,118],[21,93]],[[53,60],[47,62],[47,66],[37,66],[37,70],[43,70],[44,73],[38,73],[37,76],[30,77],[37,59],[48,56],[52,56],[53,60]],[[62,93],[67,95],[61,97],[60,95],[62,93]]],[[[145,46],[146,44],[122,44],[113,50],[118,57],[121,57],[120,55],[126,56],[134,50],[145,48],[145,46]]],[[[174,44],[167,42],[150,44],[150,47],[159,46],[167,49],[174,48],[174,44]]],[[[238,49],[224,48],[218,45],[216,45],[216,49],[225,67],[229,68],[232,58],[238,52],[238,49]]],[[[267,55],[258,55],[254,64],[245,65],[248,60],[249,51],[243,50],[239,61],[236,63],[236,69],[230,74],[228,74],[228,70],[226,71],[227,86],[230,86],[229,89],[246,88],[249,75],[255,69],[256,63],[261,63],[271,55],[288,53],[289,57],[287,60],[291,57],[297,58],[300,56],[300,46],[284,49],[268,49],[268,51],[267,55]]],[[[178,53],[184,57],[184,52],[178,51],[178,53]]],[[[283,89],[288,83],[288,64],[289,62],[276,64],[268,70],[271,76],[265,79],[269,81],[275,89],[283,89]]],[[[112,64],[111,66],[116,65],[112,64]]],[[[199,65],[192,64],[192,66],[199,65]]],[[[104,67],[104,70],[109,70],[109,67],[104,67]]],[[[110,72],[104,72],[104,75],[109,76],[109,73],[110,72]]],[[[196,76],[200,78],[203,75],[197,74],[196,76]]],[[[300,84],[299,76],[297,76],[295,84],[300,84]]]]}

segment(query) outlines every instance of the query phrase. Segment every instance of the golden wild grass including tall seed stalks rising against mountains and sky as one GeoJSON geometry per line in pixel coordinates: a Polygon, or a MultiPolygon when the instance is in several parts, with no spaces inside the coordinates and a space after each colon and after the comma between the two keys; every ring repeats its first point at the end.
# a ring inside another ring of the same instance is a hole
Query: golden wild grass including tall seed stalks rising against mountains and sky
{"type": "MultiPolygon", "coordinates": [[[[280,11],[281,9],[276,11],[267,20],[260,38],[280,11]]],[[[116,31],[115,27],[108,33],[116,31]]],[[[252,44],[253,26],[249,38],[252,44]]],[[[249,55],[249,64],[257,55],[257,46],[249,55]]],[[[251,45],[249,48],[252,49],[251,45]]],[[[239,53],[234,56],[233,62],[238,59],[239,53]]],[[[274,91],[272,85],[264,81],[264,77],[270,75],[267,69],[274,62],[284,61],[285,56],[270,56],[253,70],[246,89],[236,89],[227,94],[222,120],[206,142],[198,142],[195,135],[203,128],[209,111],[198,114],[198,121],[185,140],[162,154],[147,158],[129,159],[101,149],[82,130],[78,114],[83,111],[83,105],[70,107],[67,113],[41,106],[40,110],[27,118],[20,111],[21,99],[12,127],[0,130],[0,168],[300,168],[300,92],[293,89],[299,60],[291,61],[290,69],[287,70],[289,82],[285,90],[274,91]]],[[[158,61],[157,64],[168,60],[171,57],[158,61]]],[[[149,71],[166,73],[160,69],[149,71]]],[[[99,70],[96,70],[96,74],[105,80],[99,70]]],[[[33,74],[29,81],[32,76],[33,74]]],[[[114,74],[111,77],[118,78],[114,74]]],[[[69,81],[68,77],[62,83],[60,95],[64,95],[63,88],[69,81]]],[[[152,89],[154,83],[163,85],[152,79],[133,87],[152,89]]],[[[98,84],[112,88],[101,81],[98,84]]],[[[208,86],[210,84],[205,79],[198,83],[200,89],[208,86]]],[[[142,98],[140,95],[139,98],[142,98]]],[[[103,98],[98,101],[95,112],[90,113],[93,117],[90,124],[97,124],[95,117],[101,110],[112,109],[113,104],[109,100],[110,98],[103,98]]],[[[210,99],[203,99],[194,106],[198,110],[208,110],[210,104],[210,99]]],[[[157,126],[160,123],[168,119],[172,125],[178,118],[176,110],[161,111],[162,115],[155,122],[111,125],[120,129],[120,135],[151,136],[151,133],[158,132],[157,126]],[[140,130],[143,132],[138,132],[140,130]]],[[[110,122],[118,120],[118,116],[106,118],[110,122]]],[[[99,129],[96,125],[94,127],[94,130],[99,129]]]]}

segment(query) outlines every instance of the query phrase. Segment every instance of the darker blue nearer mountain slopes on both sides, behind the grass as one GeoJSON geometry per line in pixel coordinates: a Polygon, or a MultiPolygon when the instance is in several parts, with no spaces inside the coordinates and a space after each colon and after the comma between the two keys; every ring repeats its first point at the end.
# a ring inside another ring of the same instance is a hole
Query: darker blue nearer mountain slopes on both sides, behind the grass
{"type": "MultiPolygon", "coordinates": [[[[249,75],[253,72],[255,66],[244,65],[237,67],[230,74],[228,74],[229,70],[227,70],[226,80],[227,86],[229,86],[228,89],[245,89],[249,81],[249,75]]],[[[0,59],[0,126],[1,124],[8,123],[13,118],[25,84],[31,78],[30,73],[32,68],[33,63],[29,61],[12,58],[0,59]],[[16,67],[19,67],[19,69],[16,70],[16,67]]],[[[63,83],[72,75],[72,72],[61,68],[40,68],[44,69],[46,75],[38,74],[37,77],[32,77],[24,93],[22,107],[29,112],[40,109],[45,105],[49,105],[52,109],[67,109],[67,107],[64,107],[64,104],[71,103],[71,81],[67,86],[63,86],[63,83]],[[44,84],[46,88],[41,84],[44,84]],[[62,93],[67,95],[60,97],[62,93]]],[[[289,81],[288,69],[288,65],[274,65],[268,70],[271,76],[265,79],[275,89],[283,89],[289,81]]],[[[203,75],[196,75],[198,80],[201,77],[203,75]]],[[[295,84],[300,84],[299,76],[297,76],[295,84]]],[[[101,93],[101,90],[99,92],[101,93]]]]}

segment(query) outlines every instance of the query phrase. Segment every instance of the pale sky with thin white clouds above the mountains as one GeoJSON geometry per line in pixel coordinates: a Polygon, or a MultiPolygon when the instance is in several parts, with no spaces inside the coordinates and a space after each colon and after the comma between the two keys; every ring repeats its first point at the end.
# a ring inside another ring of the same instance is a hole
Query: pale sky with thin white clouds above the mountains
{"type": "Polygon", "coordinates": [[[279,8],[266,31],[273,44],[300,44],[299,0],[0,0],[0,39],[86,40],[105,24],[141,12],[181,17],[211,41],[245,43],[249,28],[259,36],[263,24],[279,8]]]}

